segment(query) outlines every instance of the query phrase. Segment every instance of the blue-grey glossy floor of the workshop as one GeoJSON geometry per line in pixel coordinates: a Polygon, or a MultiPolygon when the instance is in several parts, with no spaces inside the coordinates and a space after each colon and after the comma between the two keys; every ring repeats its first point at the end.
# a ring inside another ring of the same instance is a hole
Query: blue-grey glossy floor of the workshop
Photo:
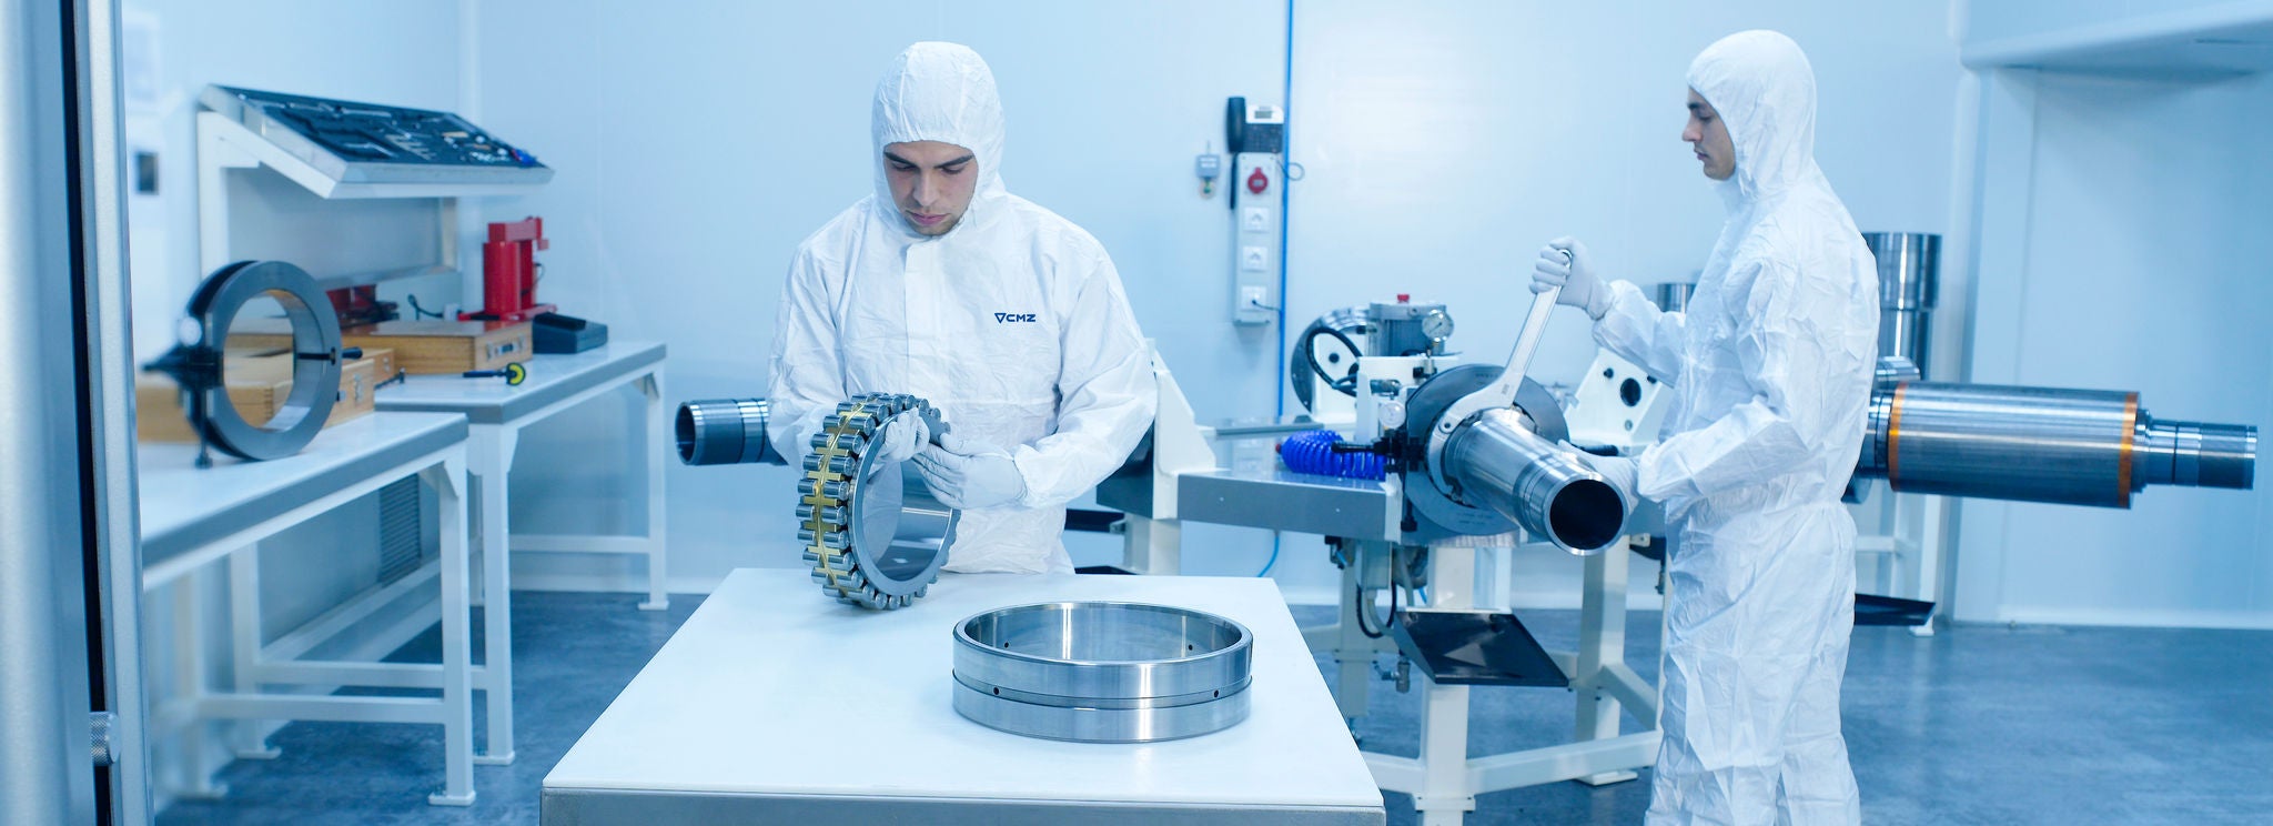
{"type": "MultiPolygon", "coordinates": [[[[273,737],[282,758],[220,774],[225,801],[175,803],[159,824],[534,824],[546,771],[700,596],[675,594],[668,612],[636,601],[514,594],[518,755],[475,767],[471,808],[425,806],[441,783],[432,726],[293,724],[273,737]]],[[[1575,612],[1523,619],[1550,649],[1577,637],[1575,612]]],[[[436,639],[396,658],[432,660],[436,639]]],[[[1657,614],[1630,614],[1627,658],[1655,678],[1657,614]]],[[[1843,708],[1868,824],[2273,821],[2273,633],[1857,628],[1843,708]]],[[[1412,755],[1416,719],[1418,694],[1375,683],[1357,733],[1368,751],[1412,755]]],[[[1473,755],[1552,744],[1568,737],[1573,703],[1562,689],[1475,689],[1471,721],[1473,755]]],[[[1414,821],[1409,799],[1387,799],[1391,824],[1414,821]]],[[[1643,808],[1648,771],[1484,794],[1468,824],[1637,824],[1643,808]]]]}

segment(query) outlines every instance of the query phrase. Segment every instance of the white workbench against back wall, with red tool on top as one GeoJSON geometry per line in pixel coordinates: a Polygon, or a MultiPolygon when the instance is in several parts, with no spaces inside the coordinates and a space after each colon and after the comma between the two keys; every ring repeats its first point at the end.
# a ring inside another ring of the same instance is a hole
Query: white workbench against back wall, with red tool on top
{"type": "Polygon", "coordinates": [[[664,610],[664,462],[671,457],[664,419],[664,346],[655,341],[611,341],[568,355],[536,355],[527,362],[530,378],[518,387],[502,378],[409,375],[400,385],[380,387],[382,412],[446,412],[466,416],[468,462],[473,462],[473,535],[482,551],[482,689],[489,712],[489,737],[475,755],[484,765],[514,762],[514,628],[511,628],[511,557],[509,551],[636,553],[648,557],[648,601],[639,608],[664,610]],[[507,473],[521,428],[582,405],[618,387],[639,387],[646,396],[648,460],[648,532],[641,537],[559,537],[511,535],[507,521],[507,473]]]}

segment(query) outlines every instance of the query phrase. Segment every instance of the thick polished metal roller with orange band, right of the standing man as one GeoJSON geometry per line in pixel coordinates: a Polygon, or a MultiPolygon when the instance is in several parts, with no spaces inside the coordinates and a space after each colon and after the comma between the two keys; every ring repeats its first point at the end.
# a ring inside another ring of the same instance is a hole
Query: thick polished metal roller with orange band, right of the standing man
{"type": "Polygon", "coordinates": [[[2148,485],[2255,485],[2257,428],[2155,421],[2139,394],[1891,382],[1859,478],[1898,492],[2130,507],[2148,485]]]}

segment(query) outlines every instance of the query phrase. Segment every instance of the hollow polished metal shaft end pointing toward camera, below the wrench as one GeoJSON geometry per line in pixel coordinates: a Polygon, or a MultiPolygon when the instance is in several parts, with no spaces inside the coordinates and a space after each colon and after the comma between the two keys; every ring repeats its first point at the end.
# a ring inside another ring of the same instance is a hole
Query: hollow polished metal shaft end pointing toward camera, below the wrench
{"type": "Polygon", "coordinates": [[[1443,446],[1459,498],[1514,519],[1534,537],[1602,553],[1625,526],[1625,498],[1575,453],[1534,435],[1512,407],[1487,410],[1443,446]]]}

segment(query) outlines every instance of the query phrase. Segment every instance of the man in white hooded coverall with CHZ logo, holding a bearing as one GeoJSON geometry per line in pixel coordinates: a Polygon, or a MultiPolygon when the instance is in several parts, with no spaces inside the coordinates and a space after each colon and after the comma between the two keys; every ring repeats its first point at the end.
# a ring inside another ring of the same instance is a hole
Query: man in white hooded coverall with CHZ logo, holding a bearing
{"type": "Polygon", "coordinates": [[[789,264],[775,437],[805,451],[855,394],[927,398],[950,432],[898,416],[880,444],[961,510],[948,571],[1071,573],[1066,503],[1127,460],[1157,403],[1121,275],[1089,232],[1002,189],[1002,100],[977,52],[900,52],[873,137],[875,191],[789,264]]]}

